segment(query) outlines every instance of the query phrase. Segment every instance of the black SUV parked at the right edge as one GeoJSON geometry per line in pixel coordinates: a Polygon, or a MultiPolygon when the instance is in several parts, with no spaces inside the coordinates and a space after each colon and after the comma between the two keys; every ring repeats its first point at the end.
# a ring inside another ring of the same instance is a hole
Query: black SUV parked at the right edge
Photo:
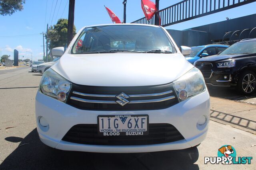
{"type": "Polygon", "coordinates": [[[195,62],[206,84],[235,86],[244,95],[255,92],[256,39],[237,42],[219,55],[204,57],[195,62]]]}

